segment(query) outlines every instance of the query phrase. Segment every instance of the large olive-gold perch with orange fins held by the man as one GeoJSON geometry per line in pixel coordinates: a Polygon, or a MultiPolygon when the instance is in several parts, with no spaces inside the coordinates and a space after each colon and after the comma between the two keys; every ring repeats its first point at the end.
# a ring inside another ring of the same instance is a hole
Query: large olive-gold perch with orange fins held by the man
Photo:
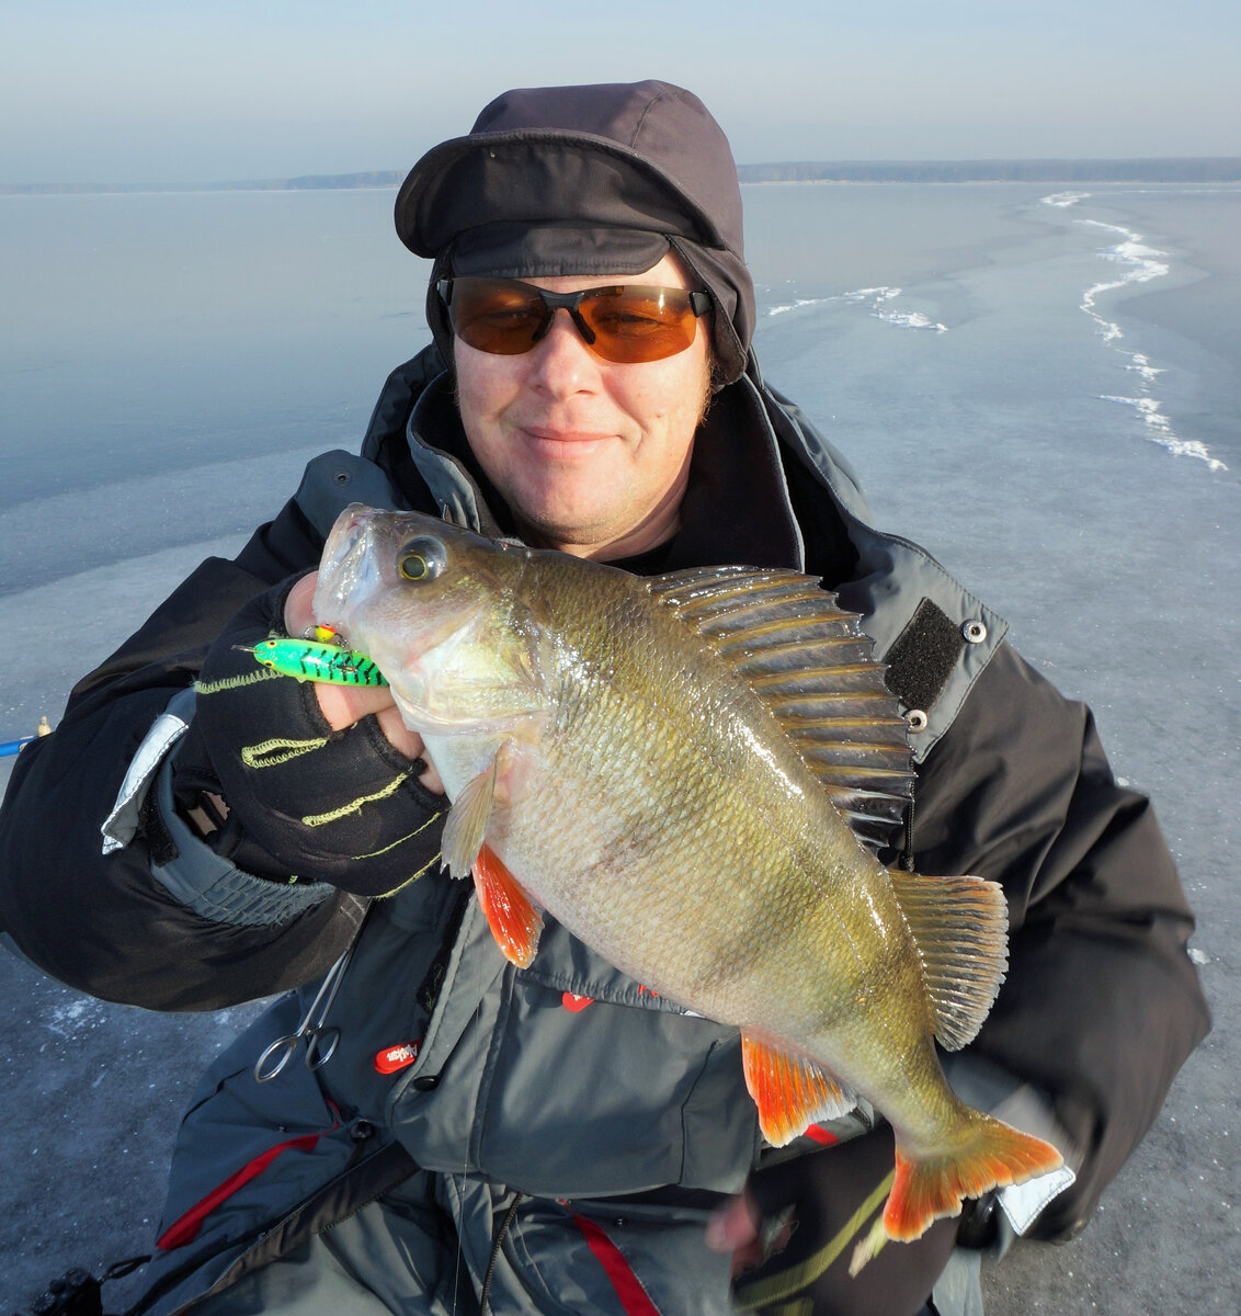
{"type": "Polygon", "coordinates": [[[907,722],[859,619],[813,576],[641,578],[354,504],[321,624],[368,654],[451,800],[442,862],[496,944],[542,916],[686,1011],[736,1026],[763,1137],[865,1096],[895,1133],[875,1230],[1061,1165],[965,1104],[936,1042],[982,1026],[1007,969],[995,882],[888,869],[907,722]]]}

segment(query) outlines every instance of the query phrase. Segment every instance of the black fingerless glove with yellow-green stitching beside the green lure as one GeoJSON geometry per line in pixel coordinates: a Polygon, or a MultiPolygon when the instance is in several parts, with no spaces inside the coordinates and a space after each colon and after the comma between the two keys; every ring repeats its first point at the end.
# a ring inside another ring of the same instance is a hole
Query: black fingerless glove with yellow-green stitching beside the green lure
{"type": "Polygon", "coordinates": [[[425,871],[440,853],[443,796],[420,782],[375,717],[334,732],[309,682],[278,676],[242,651],[284,634],[293,580],[253,599],[207,653],[196,712],[174,758],[180,812],[224,797],[208,844],[275,882],[329,882],[374,896],[425,871]]]}

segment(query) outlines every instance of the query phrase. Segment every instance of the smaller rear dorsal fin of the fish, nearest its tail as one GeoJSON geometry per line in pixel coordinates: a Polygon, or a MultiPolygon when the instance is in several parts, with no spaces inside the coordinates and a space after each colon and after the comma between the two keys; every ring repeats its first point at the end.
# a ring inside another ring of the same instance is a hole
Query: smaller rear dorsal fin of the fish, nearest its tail
{"type": "Polygon", "coordinates": [[[936,1037],[945,1050],[961,1050],[982,1028],[1008,967],[1004,888],[984,878],[890,876],[923,955],[936,1037]]]}

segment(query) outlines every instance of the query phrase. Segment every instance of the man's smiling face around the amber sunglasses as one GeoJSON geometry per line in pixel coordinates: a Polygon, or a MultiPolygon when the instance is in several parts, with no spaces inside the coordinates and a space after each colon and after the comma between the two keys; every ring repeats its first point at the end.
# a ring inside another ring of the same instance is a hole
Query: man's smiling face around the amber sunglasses
{"type": "MultiPolygon", "coordinates": [[[[671,257],[645,274],[526,282],[549,292],[690,287],[671,257]]],[[[466,437],[529,542],[608,559],[676,530],[694,433],[711,396],[708,341],[699,322],[675,357],[615,365],[587,347],[565,311],[520,357],[454,340],[466,437]]]]}

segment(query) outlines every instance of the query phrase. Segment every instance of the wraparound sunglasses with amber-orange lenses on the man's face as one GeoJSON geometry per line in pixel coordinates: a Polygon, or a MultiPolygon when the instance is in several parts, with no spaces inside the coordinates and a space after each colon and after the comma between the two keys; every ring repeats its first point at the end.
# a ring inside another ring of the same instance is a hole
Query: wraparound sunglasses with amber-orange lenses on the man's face
{"type": "Polygon", "coordinates": [[[436,291],[462,342],[499,357],[520,357],[569,312],[583,342],[604,361],[633,365],[675,357],[694,342],[705,292],[617,283],[580,292],[546,292],[520,279],[441,279],[436,291]]]}

